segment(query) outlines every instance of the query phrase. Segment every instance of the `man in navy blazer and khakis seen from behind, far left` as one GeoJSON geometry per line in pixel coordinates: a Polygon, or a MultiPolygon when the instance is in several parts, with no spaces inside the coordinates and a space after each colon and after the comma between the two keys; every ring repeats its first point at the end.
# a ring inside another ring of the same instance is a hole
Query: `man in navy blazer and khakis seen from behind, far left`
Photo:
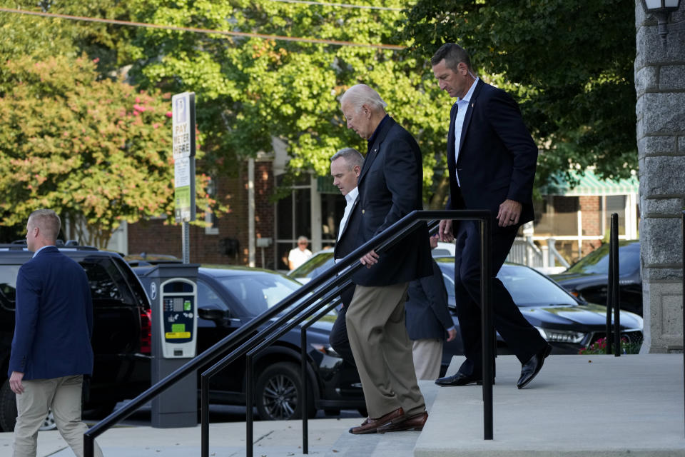
{"type": "MultiPolygon", "coordinates": [[[[86,272],[55,247],[59,216],[31,213],[26,246],[35,252],[16,277],[9,386],[16,393],[14,456],[36,456],[38,429],[49,408],[76,456],[83,456],[83,375],[93,372],[93,303],[86,272]]],[[[101,456],[96,445],[96,455],[101,456]]]]}

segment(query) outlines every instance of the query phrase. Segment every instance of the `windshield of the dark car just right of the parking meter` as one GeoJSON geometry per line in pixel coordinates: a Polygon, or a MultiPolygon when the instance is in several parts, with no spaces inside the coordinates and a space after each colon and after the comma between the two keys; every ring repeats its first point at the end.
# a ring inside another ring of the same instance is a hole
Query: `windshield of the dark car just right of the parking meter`
{"type": "Polygon", "coordinates": [[[216,280],[253,316],[263,313],[300,288],[296,281],[265,272],[218,276],[216,280]]]}

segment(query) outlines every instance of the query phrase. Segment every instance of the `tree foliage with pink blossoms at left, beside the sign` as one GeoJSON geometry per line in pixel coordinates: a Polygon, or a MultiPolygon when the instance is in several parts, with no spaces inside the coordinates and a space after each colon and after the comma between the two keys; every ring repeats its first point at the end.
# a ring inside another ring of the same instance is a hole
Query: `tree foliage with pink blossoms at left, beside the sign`
{"type": "MultiPolygon", "coordinates": [[[[0,219],[25,224],[51,208],[104,246],[121,221],[173,215],[171,97],[98,79],[85,56],[4,61],[0,219]],[[75,224],[79,226],[80,224],[75,224]]],[[[198,206],[208,201],[197,180],[198,206]]]]}

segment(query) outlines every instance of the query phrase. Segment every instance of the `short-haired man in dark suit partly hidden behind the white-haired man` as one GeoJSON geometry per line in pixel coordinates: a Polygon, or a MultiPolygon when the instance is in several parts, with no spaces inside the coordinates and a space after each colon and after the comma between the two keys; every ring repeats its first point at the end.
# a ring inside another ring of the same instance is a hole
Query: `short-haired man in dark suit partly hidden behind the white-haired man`
{"type": "MultiPolygon", "coordinates": [[[[357,206],[357,179],[362,172],[364,156],[354,148],[340,149],[330,158],[330,175],[333,176],[333,186],[340,189],[340,194],[345,197],[345,213],[340,220],[338,229],[338,241],[335,242],[333,260],[338,261],[354,251],[357,245],[357,231],[359,230],[359,217],[352,218],[352,212],[357,206]]],[[[356,366],[355,357],[352,356],[350,340],[347,338],[347,326],[345,326],[345,311],[350,306],[355,286],[352,284],[340,291],[342,306],[335,318],[333,328],[330,329],[328,341],[335,352],[340,354],[342,360],[356,366]]]]}

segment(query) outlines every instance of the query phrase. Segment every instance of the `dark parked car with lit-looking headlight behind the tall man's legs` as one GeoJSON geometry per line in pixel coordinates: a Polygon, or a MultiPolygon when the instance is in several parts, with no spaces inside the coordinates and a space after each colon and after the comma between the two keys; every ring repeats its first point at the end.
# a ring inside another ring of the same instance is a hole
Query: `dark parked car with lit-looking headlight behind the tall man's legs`
{"type": "MultiPolygon", "coordinates": [[[[436,258],[447,288],[448,306],[459,329],[455,303],[455,258],[436,258]]],[[[523,316],[552,345],[553,354],[577,354],[590,346],[606,331],[606,306],[579,300],[552,279],[524,265],[505,263],[497,274],[512,294],[523,316]]],[[[621,336],[631,343],[642,341],[642,318],[621,311],[621,336]]],[[[497,352],[508,353],[502,337],[497,335],[497,352]]],[[[452,355],[463,353],[461,338],[445,343],[442,364],[450,363],[452,355]]]]}

